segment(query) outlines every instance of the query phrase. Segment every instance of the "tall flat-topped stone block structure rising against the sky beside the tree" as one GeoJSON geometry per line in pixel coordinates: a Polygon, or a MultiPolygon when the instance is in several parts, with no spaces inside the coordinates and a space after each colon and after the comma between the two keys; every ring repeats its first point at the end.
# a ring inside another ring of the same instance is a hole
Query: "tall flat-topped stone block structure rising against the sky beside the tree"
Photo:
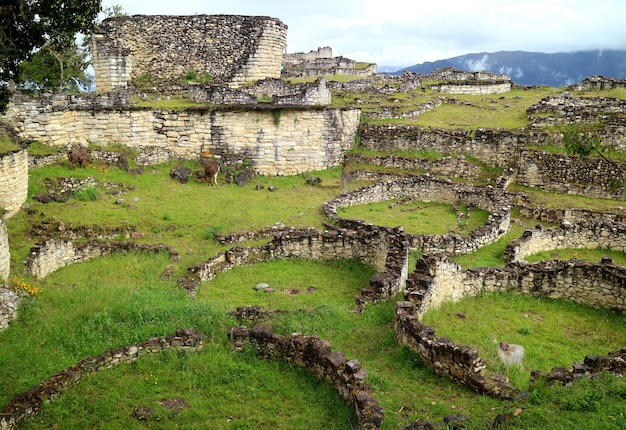
{"type": "Polygon", "coordinates": [[[287,26],[276,18],[239,15],[134,15],[108,18],[94,34],[98,91],[150,76],[163,83],[189,71],[237,87],[280,77],[287,26]]]}

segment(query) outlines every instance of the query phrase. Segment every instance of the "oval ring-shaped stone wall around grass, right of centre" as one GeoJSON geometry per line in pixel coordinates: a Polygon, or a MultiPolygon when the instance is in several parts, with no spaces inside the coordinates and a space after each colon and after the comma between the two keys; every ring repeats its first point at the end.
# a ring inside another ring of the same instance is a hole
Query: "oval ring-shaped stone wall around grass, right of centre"
{"type": "Polygon", "coordinates": [[[368,224],[362,220],[339,217],[338,208],[403,198],[425,202],[464,203],[470,207],[478,207],[491,212],[487,224],[473,231],[468,237],[454,233],[406,234],[411,248],[422,252],[466,254],[497,241],[508,232],[510,227],[510,207],[501,191],[491,186],[474,187],[442,181],[428,175],[396,178],[344,193],[326,202],[323,210],[324,214],[338,225],[350,230],[358,230],[368,224]]]}

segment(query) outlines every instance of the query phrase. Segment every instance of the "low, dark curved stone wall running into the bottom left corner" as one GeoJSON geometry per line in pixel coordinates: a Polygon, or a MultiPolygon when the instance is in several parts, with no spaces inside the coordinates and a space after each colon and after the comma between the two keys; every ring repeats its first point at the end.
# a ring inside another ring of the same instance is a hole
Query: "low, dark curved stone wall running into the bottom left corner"
{"type": "Polygon", "coordinates": [[[110,349],[87,357],[24,393],[16,394],[0,409],[0,429],[12,430],[37,415],[43,402],[57,398],[87,374],[109,369],[122,363],[132,363],[139,357],[167,349],[196,351],[202,348],[202,333],[192,328],[178,329],[173,336],[159,336],[145,342],[110,349]]]}

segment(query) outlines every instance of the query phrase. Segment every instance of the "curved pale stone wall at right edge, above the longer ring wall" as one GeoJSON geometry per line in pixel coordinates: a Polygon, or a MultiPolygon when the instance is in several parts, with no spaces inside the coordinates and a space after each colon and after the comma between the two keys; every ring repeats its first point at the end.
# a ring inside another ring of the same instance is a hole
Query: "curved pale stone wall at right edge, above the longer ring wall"
{"type": "Polygon", "coordinates": [[[504,253],[506,263],[524,260],[528,255],[552,249],[611,249],[626,251],[626,225],[611,220],[564,221],[558,228],[542,225],[509,243],[504,253]]]}

